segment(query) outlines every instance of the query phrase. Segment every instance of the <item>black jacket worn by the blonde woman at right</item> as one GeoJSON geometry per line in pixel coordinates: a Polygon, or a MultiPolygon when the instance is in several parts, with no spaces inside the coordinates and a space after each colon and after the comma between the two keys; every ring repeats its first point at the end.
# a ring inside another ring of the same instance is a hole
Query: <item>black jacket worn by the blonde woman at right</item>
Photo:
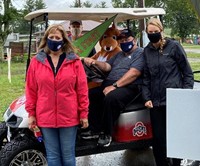
{"type": "Polygon", "coordinates": [[[153,106],[166,105],[166,88],[192,89],[194,77],[182,46],[166,39],[163,52],[149,43],[144,49],[144,79],[142,93],[145,102],[153,106]]]}

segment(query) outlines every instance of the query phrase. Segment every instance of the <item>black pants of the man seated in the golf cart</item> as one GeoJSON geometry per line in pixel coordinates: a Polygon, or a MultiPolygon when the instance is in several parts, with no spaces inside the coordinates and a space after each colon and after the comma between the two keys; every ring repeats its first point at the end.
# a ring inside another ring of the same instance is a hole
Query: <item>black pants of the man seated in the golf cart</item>
{"type": "Polygon", "coordinates": [[[113,127],[120,113],[139,93],[138,85],[130,84],[117,88],[106,96],[103,89],[112,85],[113,81],[106,81],[102,87],[90,91],[89,124],[94,131],[103,131],[112,135],[113,127]]]}

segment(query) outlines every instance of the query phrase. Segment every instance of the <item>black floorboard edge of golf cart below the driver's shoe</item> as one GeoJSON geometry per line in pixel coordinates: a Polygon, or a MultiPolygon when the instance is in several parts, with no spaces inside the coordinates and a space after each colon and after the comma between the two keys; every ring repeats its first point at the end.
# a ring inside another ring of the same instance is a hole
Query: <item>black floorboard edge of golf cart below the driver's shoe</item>
{"type": "Polygon", "coordinates": [[[125,149],[146,149],[152,145],[152,140],[138,140],[132,142],[115,142],[113,141],[108,147],[97,146],[97,139],[83,140],[78,139],[76,142],[76,157],[112,152],[125,149]]]}

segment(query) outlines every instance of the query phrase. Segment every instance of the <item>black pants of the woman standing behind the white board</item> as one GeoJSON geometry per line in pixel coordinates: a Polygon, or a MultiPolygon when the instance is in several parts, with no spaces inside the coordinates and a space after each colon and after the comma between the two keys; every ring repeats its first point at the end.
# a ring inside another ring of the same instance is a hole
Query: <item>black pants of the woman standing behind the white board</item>
{"type": "Polygon", "coordinates": [[[157,166],[180,166],[180,159],[167,158],[166,145],[166,106],[150,110],[153,131],[153,154],[157,166]]]}

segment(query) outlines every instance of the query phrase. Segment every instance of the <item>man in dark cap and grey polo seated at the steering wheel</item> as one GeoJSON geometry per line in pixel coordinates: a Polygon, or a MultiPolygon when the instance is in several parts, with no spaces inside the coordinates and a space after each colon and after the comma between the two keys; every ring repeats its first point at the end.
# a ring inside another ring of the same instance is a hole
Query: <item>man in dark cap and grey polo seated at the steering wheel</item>
{"type": "MultiPolygon", "coordinates": [[[[138,95],[139,85],[142,84],[143,49],[137,46],[134,33],[128,29],[121,32],[119,42],[122,51],[107,62],[84,59],[87,65],[94,64],[102,71],[109,72],[101,86],[101,97],[98,101],[101,103],[100,109],[89,110],[89,119],[101,123],[103,134],[99,136],[98,146],[110,145],[114,123],[125,106],[138,95]]],[[[93,105],[91,100],[90,105],[93,105]]],[[[89,123],[91,125],[91,121],[89,123]]]]}

